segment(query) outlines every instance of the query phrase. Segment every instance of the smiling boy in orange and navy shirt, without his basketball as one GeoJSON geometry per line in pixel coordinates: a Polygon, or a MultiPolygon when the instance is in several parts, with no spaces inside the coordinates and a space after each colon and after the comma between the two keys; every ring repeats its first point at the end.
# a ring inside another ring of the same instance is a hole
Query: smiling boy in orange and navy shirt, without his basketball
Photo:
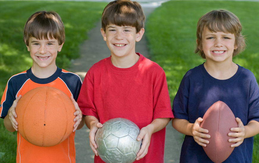
{"type": "Polygon", "coordinates": [[[35,146],[17,132],[16,162],[75,162],[74,131],[84,125],[81,110],[75,101],[82,81],[78,75],[56,66],[57,53],[65,42],[63,22],[56,12],[36,12],[27,20],[23,38],[33,64],[29,70],[13,75],[8,80],[0,104],[0,115],[4,118],[5,128],[10,132],[18,131],[15,107],[19,99],[26,92],[41,86],[54,87],[67,94],[76,108],[76,117],[71,135],[56,146],[35,146]]]}

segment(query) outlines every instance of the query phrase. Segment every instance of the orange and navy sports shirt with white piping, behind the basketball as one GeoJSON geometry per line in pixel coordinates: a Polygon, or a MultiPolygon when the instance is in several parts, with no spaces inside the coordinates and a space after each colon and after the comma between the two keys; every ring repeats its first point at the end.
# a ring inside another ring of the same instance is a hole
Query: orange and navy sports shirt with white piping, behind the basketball
{"type": "MultiPolygon", "coordinates": [[[[13,101],[33,88],[49,86],[63,91],[77,100],[82,85],[80,77],[72,72],[57,68],[56,72],[48,78],[37,78],[31,68],[13,75],[7,82],[0,104],[0,116],[7,116],[13,101]]],[[[58,116],[58,113],[57,113],[58,116]]],[[[18,124],[19,128],[19,124],[18,124]]],[[[62,143],[52,147],[39,147],[27,142],[17,132],[16,162],[75,162],[76,150],[74,144],[75,133],[62,143]]]]}

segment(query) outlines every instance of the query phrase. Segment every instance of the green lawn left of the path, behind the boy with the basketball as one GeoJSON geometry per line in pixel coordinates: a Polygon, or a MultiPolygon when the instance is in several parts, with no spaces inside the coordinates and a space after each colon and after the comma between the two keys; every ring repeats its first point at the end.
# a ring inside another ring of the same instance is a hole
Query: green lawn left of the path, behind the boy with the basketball
{"type": "MultiPolygon", "coordinates": [[[[80,1],[0,1],[0,98],[8,79],[32,66],[32,59],[23,42],[23,27],[27,19],[40,10],[56,11],[65,26],[66,41],[58,53],[56,64],[70,66],[79,57],[79,44],[87,32],[101,19],[106,2],[80,1]]],[[[0,162],[13,163],[16,158],[16,132],[8,132],[0,120],[0,162]]]]}

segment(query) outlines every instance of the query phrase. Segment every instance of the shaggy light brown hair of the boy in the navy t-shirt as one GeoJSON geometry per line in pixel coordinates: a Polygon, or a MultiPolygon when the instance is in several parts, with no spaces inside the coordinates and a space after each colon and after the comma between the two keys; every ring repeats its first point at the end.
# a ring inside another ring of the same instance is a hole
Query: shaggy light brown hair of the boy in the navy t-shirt
{"type": "Polygon", "coordinates": [[[202,33],[205,28],[213,32],[232,33],[235,35],[235,46],[238,47],[233,51],[233,57],[241,53],[245,47],[245,38],[242,35],[242,25],[238,17],[232,12],[226,10],[212,10],[200,17],[197,23],[197,46],[195,53],[205,59],[202,47],[202,33]]]}

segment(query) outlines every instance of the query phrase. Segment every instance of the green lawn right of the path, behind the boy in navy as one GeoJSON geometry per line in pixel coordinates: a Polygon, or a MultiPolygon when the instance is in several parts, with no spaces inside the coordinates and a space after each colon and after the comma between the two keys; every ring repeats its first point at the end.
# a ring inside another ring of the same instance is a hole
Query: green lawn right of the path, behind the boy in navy
{"type": "MultiPolygon", "coordinates": [[[[205,62],[194,53],[196,26],[203,14],[227,9],[236,14],[247,35],[247,49],[233,62],[251,70],[259,81],[259,2],[249,1],[168,1],[150,14],[145,27],[152,60],[165,71],[171,102],[183,75],[205,62]]],[[[259,136],[255,136],[253,162],[259,162],[259,136]]]]}

